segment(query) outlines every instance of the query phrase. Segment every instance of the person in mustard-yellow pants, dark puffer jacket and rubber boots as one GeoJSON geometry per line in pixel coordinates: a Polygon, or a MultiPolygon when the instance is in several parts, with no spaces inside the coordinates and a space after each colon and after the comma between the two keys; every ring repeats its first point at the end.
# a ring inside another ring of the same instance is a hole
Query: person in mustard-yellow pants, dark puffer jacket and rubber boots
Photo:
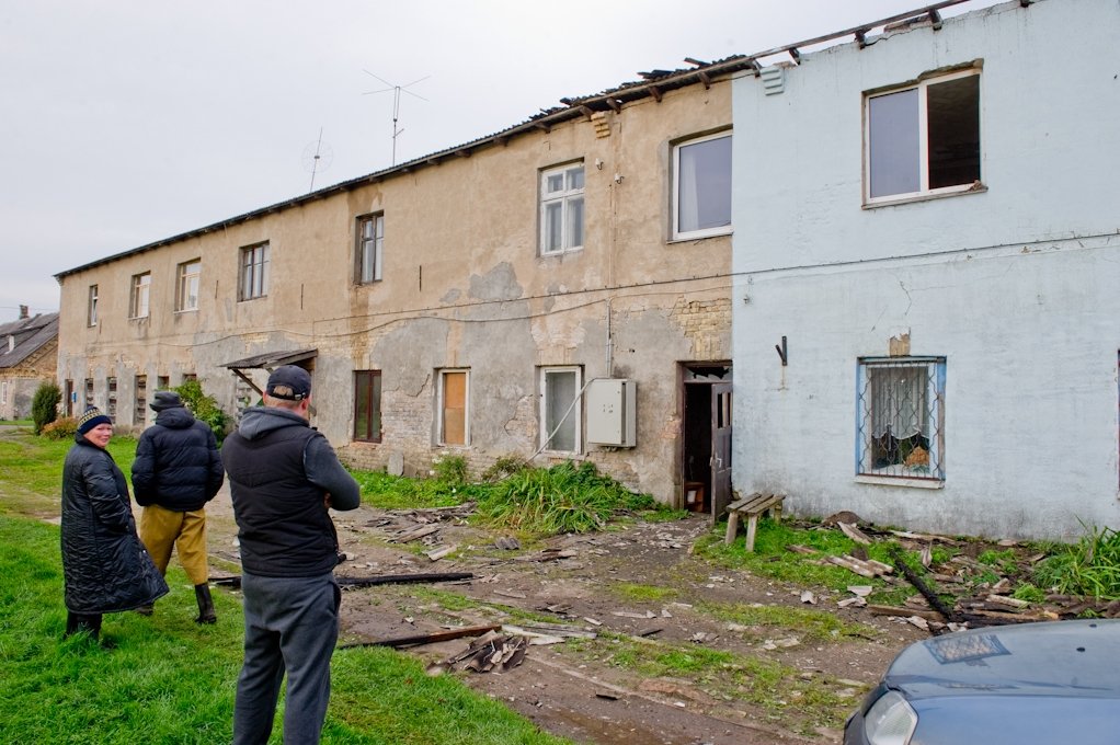
{"type": "MultiPolygon", "coordinates": [[[[140,435],[132,462],[132,488],[140,515],[140,540],[160,574],[171,551],[195,586],[197,623],[214,623],[206,560],[206,503],[225,478],[213,430],[183,404],[175,391],[158,391],[151,408],[156,423],[140,435]]],[[[140,609],[151,613],[151,606],[140,609]]]]}

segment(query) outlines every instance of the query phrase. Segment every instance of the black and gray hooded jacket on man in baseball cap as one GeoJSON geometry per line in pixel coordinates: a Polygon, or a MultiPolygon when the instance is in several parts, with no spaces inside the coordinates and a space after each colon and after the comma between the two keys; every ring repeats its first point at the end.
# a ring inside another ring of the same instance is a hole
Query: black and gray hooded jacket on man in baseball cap
{"type": "Polygon", "coordinates": [[[316,577],[338,564],[338,536],[325,503],[353,510],[357,482],[307,420],[254,407],[222,444],[237,521],[241,566],[261,577],[316,577]]]}

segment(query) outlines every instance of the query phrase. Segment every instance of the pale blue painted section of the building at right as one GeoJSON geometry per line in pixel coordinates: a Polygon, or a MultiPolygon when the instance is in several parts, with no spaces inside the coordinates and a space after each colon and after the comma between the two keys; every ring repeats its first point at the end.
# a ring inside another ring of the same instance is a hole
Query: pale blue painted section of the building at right
{"type": "Polygon", "coordinates": [[[735,490],[1120,528],[1120,3],[855,37],[734,84],[735,490]]]}

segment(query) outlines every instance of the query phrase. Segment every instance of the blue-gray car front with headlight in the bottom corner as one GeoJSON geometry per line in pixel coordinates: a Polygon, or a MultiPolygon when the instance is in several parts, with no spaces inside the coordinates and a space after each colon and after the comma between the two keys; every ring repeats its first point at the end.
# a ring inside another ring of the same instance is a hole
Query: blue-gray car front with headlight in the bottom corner
{"type": "Polygon", "coordinates": [[[1118,745],[1120,620],[974,628],[903,650],[844,745],[1118,745]]]}

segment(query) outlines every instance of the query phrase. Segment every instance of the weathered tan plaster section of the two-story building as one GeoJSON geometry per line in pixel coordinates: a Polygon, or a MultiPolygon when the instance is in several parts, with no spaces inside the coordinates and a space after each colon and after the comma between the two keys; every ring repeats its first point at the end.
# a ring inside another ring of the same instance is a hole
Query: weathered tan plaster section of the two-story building
{"type": "Polygon", "coordinates": [[[741,71],[648,73],[62,272],[66,400],[142,428],[157,389],[197,378],[233,412],[295,363],[356,466],[589,458],[668,503],[726,502],[741,71]]]}

